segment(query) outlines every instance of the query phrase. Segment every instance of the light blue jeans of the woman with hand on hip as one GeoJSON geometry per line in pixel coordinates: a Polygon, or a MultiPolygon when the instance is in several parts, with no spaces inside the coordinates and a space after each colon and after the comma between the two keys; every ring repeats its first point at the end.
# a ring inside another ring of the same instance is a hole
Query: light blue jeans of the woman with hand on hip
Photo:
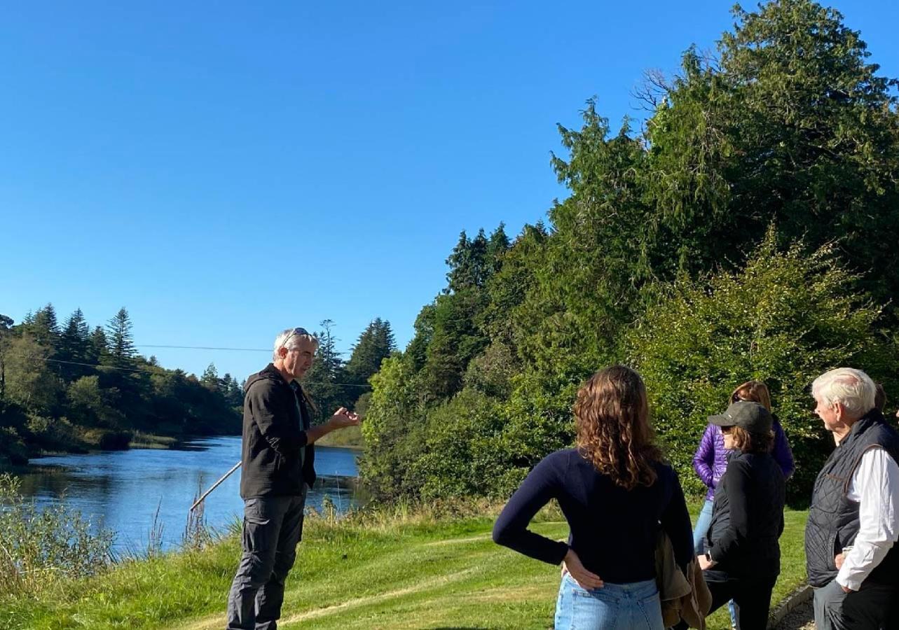
{"type": "Polygon", "coordinates": [[[654,580],[606,582],[583,590],[565,573],[556,600],[556,630],[663,630],[662,604],[654,580]]]}

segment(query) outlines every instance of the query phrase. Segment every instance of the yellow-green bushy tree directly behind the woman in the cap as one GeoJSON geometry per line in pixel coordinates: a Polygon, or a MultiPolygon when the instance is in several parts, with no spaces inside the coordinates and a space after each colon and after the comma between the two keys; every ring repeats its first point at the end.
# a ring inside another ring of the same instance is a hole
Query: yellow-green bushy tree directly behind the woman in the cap
{"type": "Polygon", "coordinates": [[[899,356],[875,329],[880,309],[853,287],[836,250],[779,251],[773,230],[743,271],[663,286],[628,332],[628,351],[650,396],[654,427],[686,487],[699,491],[690,460],[707,418],[734,387],[768,384],[797,459],[791,487],[804,493],[832,450],[808,386],[827,369],[889,374],[899,356]]]}

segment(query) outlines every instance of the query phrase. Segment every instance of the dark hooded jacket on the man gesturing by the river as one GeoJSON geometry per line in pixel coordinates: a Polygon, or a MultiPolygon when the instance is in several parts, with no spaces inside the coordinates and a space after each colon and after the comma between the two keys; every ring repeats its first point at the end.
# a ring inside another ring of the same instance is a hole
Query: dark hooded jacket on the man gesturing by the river
{"type": "Polygon", "coordinates": [[[240,496],[293,496],[316,481],[315,448],[302,391],[271,363],[244,386],[243,471],[240,496]]]}

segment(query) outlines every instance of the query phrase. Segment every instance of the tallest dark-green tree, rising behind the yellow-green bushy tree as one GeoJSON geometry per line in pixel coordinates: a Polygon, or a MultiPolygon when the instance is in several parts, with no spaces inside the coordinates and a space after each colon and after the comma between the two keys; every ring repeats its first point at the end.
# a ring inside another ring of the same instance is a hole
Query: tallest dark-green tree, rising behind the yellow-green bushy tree
{"type": "Polygon", "coordinates": [[[671,260],[706,271],[722,251],[740,264],[773,222],[782,243],[837,240],[862,287],[886,302],[899,290],[899,274],[877,272],[899,262],[899,84],[820,4],[737,6],[734,18],[717,59],[688,50],[647,123],[657,275],[671,278],[671,260]]]}

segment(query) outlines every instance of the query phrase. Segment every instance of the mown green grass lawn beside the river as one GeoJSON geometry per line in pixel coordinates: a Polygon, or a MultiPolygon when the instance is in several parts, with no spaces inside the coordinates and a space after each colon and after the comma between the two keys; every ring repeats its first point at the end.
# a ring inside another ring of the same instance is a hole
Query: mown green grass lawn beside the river
{"type": "MultiPolygon", "coordinates": [[[[536,531],[565,538],[557,515],[536,531]]],[[[806,512],[788,511],[773,601],[805,578],[806,512]]],[[[556,567],[490,539],[492,518],[421,516],[307,519],[285,596],[284,628],[550,628],[556,567]]],[[[203,551],[125,563],[85,581],[58,584],[37,598],[0,595],[0,627],[223,628],[236,537],[203,551]]],[[[726,611],[710,628],[728,627],[726,611]]]]}

